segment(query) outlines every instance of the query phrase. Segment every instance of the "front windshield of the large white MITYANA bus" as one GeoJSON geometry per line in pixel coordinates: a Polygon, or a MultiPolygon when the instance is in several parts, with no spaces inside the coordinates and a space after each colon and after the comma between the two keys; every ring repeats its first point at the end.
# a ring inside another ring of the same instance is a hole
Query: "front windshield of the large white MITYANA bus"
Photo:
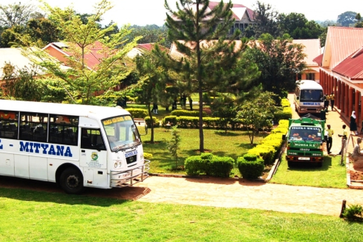
{"type": "Polygon", "coordinates": [[[134,148],[141,144],[140,135],[131,116],[116,116],[102,120],[111,151],[134,148]]]}

